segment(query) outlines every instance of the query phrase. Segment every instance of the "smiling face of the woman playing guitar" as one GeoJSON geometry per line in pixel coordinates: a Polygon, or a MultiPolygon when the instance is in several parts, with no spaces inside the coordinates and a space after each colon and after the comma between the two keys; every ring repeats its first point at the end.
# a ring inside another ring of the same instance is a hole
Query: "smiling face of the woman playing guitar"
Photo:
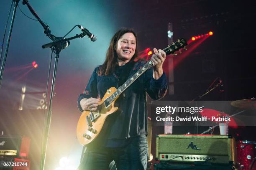
{"type": "Polygon", "coordinates": [[[133,33],[125,33],[116,43],[116,53],[118,60],[129,62],[136,50],[136,38],[133,33]]]}

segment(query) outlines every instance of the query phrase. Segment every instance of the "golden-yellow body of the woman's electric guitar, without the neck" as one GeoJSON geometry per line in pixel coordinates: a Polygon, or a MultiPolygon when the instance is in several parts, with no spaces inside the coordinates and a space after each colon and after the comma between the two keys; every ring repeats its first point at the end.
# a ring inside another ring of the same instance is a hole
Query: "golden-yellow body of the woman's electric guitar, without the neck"
{"type": "Polygon", "coordinates": [[[99,107],[97,111],[82,112],[82,115],[80,116],[79,121],[77,123],[77,140],[81,145],[88,145],[92,141],[94,141],[95,138],[98,137],[98,135],[100,134],[107,117],[118,110],[118,107],[114,107],[115,101],[111,103],[110,107],[103,107],[104,100],[111,96],[116,90],[117,89],[115,87],[111,87],[107,90],[107,92],[105,93],[105,95],[99,103],[99,106],[102,107],[99,107]],[[94,121],[89,121],[90,123],[88,123],[88,118],[90,119],[91,115],[93,114],[97,115],[97,118],[94,121]]]}

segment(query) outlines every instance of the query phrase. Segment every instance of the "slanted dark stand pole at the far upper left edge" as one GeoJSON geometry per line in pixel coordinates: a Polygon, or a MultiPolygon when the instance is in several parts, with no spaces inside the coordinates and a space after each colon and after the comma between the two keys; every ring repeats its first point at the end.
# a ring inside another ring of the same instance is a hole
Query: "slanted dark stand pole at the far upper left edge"
{"type": "Polygon", "coordinates": [[[7,53],[8,53],[9,44],[10,44],[10,37],[11,37],[11,34],[12,34],[12,30],[13,30],[14,18],[15,18],[16,9],[17,9],[17,6],[18,6],[19,1],[20,1],[20,0],[13,0],[13,2],[14,2],[13,16],[12,16],[11,23],[10,23],[10,29],[9,29],[9,33],[8,33],[7,42],[6,42],[5,54],[4,54],[4,56],[3,56],[3,62],[1,63],[1,70],[0,70],[0,88],[1,88],[1,84],[2,84],[3,71],[4,71],[4,68],[5,68],[6,57],[7,57],[7,53]]]}

